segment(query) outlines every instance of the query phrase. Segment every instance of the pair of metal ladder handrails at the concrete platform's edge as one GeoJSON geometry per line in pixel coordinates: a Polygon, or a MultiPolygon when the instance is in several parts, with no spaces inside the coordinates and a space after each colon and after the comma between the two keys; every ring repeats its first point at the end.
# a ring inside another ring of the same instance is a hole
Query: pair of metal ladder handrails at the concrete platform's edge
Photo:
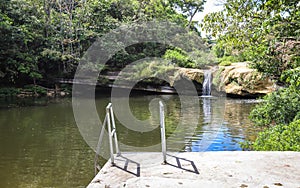
{"type": "MultiPolygon", "coordinates": [[[[161,149],[163,154],[163,163],[167,163],[167,146],[166,146],[166,133],[165,133],[165,113],[164,113],[164,104],[159,101],[159,122],[160,122],[160,133],[161,133],[161,149]]],[[[95,174],[100,170],[100,166],[98,165],[98,158],[100,154],[100,148],[102,145],[102,140],[105,132],[105,127],[107,126],[108,130],[108,140],[109,140],[109,150],[110,150],[110,161],[111,164],[115,164],[115,158],[114,158],[114,145],[117,156],[121,155],[119,144],[118,144],[118,137],[117,137],[117,131],[116,131],[116,124],[115,124],[115,118],[114,118],[114,112],[112,108],[112,104],[109,103],[106,106],[106,115],[102,124],[102,129],[99,135],[99,140],[97,143],[96,148],[96,155],[94,160],[94,167],[95,167],[95,174]],[[114,138],[114,139],[113,139],[114,138]],[[113,144],[114,142],[114,144],[113,144]]]]}

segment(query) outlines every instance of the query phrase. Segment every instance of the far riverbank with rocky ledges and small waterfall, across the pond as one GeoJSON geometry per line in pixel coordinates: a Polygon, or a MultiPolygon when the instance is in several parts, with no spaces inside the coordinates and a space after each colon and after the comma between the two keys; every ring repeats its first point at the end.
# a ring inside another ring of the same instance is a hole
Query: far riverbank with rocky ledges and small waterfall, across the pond
{"type": "MultiPolygon", "coordinates": [[[[157,62],[156,62],[157,63],[157,62]]],[[[150,66],[150,65],[149,65],[150,66]]],[[[148,66],[146,66],[146,70],[148,66]]],[[[192,81],[199,96],[205,94],[226,95],[234,98],[258,98],[276,90],[276,84],[269,78],[248,67],[247,62],[232,63],[228,66],[213,66],[208,69],[192,69],[169,66],[168,69],[150,71],[141,75],[134,68],[124,72],[106,72],[91,82],[88,78],[56,79],[46,85],[26,85],[22,88],[0,88],[1,96],[36,97],[36,96],[67,96],[72,93],[72,85],[90,85],[96,88],[132,90],[156,94],[176,94],[176,85],[184,86],[192,81]],[[127,72],[126,72],[127,71],[127,72]],[[158,75],[157,75],[158,74],[158,75]],[[159,79],[163,78],[163,79],[159,79]],[[138,82],[136,79],[138,78],[138,82]],[[143,79],[142,79],[143,78],[143,79]],[[147,78],[147,79],[145,79],[147,78]],[[134,86],[132,83],[135,83],[134,86]]]]}

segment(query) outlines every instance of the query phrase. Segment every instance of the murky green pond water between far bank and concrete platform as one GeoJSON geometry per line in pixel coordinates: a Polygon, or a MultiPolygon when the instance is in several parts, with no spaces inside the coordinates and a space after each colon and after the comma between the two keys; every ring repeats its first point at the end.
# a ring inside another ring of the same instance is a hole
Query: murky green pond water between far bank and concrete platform
{"type": "MultiPolygon", "coordinates": [[[[148,104],[154,98],[162,98],[166,104],[168,136],[180,119],[177,96],[135,96],[130,99],[132,113],[139,119],[147,119],[148,104]]],[[[85,187],[91,181],[94,176],[94,151],[78,131],[70,98],[48,104],[42,100],[35,102],[39,106],[28,107],[3,108],[7,102],[1,103],[1,188],[85,187]]],[[[107,97],[96,99],[102,117],[107,103],[107,97]]],[[[253,100],[199,97],[200,119],[196,130],[189,132],[189,128],[184,127],[179,130],[184,139],[169,142],[184,143],[182,151],[241,150],[239,142],[253,140],[257,133],[248,120],[254,104],[253,100]],[[220,122],[221,125],[217,125],[220,122]],[[203,140],[208,140],[209,145],[203,140]]],[[[137,134],[117,126],[122,143],[135,146],[159,143],[158,130],[151,134],[137,134]]]]}

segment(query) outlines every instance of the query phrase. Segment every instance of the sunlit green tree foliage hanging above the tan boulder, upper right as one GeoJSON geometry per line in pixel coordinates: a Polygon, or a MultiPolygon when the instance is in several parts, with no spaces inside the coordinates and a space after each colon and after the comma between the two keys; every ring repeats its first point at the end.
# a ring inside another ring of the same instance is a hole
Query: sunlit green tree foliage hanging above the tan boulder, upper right
{"type": "Polygon", "coordinates": [[[299,6],[289,0],[227,0],[223,11],[205,16],[202,26],[218,38],[218,57],[240,56],[279,79],[299,66],[299,6]]]}

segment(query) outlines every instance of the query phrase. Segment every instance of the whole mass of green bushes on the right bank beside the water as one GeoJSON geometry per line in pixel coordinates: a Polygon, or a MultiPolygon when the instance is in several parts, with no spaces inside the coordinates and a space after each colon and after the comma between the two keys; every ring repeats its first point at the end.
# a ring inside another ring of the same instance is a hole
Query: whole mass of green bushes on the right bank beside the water
{"type": "Polygon", "coordinates": [[[300,151],[300,76],[299,68],[285,71],[281,79],[289,84],[266,96],[250,113],[259,126],[269,127],[261,132],[253,145],[255,150],[300,151]]]}

